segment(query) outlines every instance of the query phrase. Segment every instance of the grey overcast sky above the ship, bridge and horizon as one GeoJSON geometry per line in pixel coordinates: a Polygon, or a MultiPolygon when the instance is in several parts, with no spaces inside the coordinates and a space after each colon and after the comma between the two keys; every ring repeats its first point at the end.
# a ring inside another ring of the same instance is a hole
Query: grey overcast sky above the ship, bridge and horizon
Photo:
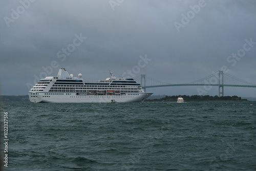
{"type": "MultiPolygon", "coordinates": [[[[27,95],[37,77],[59,68],[86,80],[105,79],[110,69],[185,83],[226,66],[256,84],[255,0],[2,0],[0,14],[2,95],[27,95]]],[[[197,88],[147,91],[198,95],[197,88]]],[[[256,88],[224,87],[224,95],[256,97],[256,88]]]]}

